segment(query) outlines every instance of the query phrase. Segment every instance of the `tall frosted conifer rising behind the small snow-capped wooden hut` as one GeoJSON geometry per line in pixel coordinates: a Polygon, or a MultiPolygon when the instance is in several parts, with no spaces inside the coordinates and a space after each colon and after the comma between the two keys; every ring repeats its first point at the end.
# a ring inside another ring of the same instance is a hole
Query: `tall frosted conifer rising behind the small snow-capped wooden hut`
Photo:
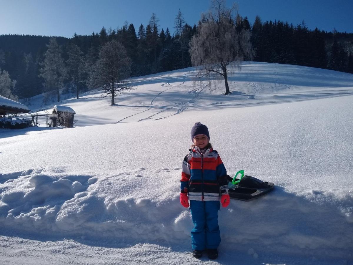
{"type": "Polygon", "coordinates": [[[44,53],[44,61],[41,63],[40,77],[44,78],[44,86],[47,91],[56,90],[59,102],[59,89],[64,85],[63,83],[67,77],[67,71],[64,59],[61,57],[60,46],[54,37],[50,38],[47,47],[48,50],[44,53]]]}

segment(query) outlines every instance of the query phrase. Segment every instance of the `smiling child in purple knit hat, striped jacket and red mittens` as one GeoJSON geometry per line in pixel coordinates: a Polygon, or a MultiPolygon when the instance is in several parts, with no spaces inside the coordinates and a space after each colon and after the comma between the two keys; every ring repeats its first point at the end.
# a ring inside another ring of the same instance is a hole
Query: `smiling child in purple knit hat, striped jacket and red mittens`
{"type": "Polygon", "coordinates": [[[206,125],[199,122],[191,129],[192,149],[183,161],[180,180],[180,203],[191,210],[194,228],[191,230],[192,255],[201,258],[207,249],[209,259],[218,257],[221,242],[218,210],[229,204],[227,171],[217,151],[209,143],[206,125]],[[188,201],[190,200],[190,205],[188,201]]]}

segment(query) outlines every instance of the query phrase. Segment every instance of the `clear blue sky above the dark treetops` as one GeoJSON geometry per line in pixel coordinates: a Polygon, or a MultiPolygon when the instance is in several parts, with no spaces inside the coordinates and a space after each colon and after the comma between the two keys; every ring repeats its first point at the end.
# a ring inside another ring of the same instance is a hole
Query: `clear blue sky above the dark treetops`
{"type": "MultiPolygon", "coordinates": [[[[233,1],[227,0],[227,6],[233,1]]],[[[305,20],[309,29],[353,33],[352,0],[238,0],[239,14],[253,23],[281,20],[297,25],[305,20]]],[[[148,24],[152,12],[160,19],[159,29],[174,33],[179,8],[190,25],[197,23],[209,0],[0,0],[0,35],[29,34],[72,37],[91,35],[104,26],[133,23],[138,30],[148,24]]]]}

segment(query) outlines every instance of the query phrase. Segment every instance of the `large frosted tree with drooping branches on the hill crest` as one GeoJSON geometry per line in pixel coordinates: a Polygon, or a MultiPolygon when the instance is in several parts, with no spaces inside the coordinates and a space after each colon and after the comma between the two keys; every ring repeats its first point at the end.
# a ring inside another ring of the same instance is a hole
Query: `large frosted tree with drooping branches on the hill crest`
{"type": "Polygon", "coordinates": [[[221,75],[225,81],[225,95],[230,94],[227,66],[235,64],[240,67],[244,57],[253,57],[250,31],[242,29],[237,32],[234,10],[234,4],[226,8],[225,0],[213,0],[208,14],[203,14],[199,21],[197,34],[189,43],[191,62],[201,67],[197,76],[221,75]]]}

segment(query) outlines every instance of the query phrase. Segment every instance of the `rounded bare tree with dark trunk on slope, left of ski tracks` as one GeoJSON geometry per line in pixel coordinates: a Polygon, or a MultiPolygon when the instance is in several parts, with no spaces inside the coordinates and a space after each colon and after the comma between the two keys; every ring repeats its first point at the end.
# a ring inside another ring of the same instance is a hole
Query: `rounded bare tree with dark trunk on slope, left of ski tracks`
{"type": "Polygon", "coordinates": [[[120,42],[112,40],[100,49],[89,86],[101,87],[107,96],[111,95],[112,105],[115,105],[114,96],[121,93],[122,89],[130,89],[125,81],[129,73],[130,59],[127,57],[125,47],[120,42]]]}

